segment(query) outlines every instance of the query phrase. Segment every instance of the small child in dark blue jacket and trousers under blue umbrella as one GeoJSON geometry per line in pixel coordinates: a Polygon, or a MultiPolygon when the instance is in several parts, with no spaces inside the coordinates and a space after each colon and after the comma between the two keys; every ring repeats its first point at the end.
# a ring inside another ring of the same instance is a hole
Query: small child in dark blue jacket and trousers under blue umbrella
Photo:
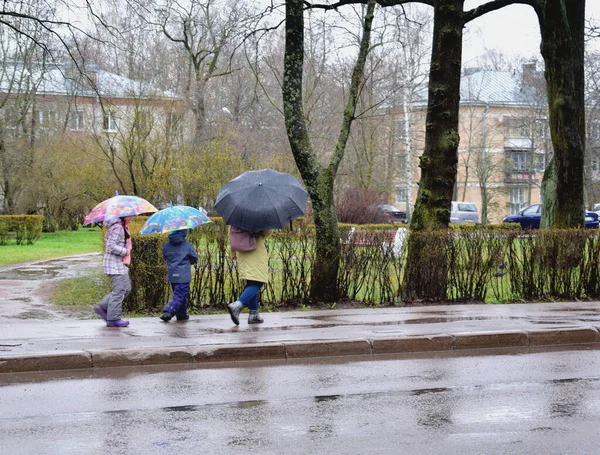
{"type": "Polygon", "coordinates": [[[169,234],[169,242],[163,246],[163,257],[167,260],[169,283],[173,289],[173,298],[169,300],[160,318],[169,322],[173,316],[178,321],[186,321],[187,297],[192,281],[192,264],[198,262],[198,254],[185,237],[187,229],[181,229],[169,234]]]}

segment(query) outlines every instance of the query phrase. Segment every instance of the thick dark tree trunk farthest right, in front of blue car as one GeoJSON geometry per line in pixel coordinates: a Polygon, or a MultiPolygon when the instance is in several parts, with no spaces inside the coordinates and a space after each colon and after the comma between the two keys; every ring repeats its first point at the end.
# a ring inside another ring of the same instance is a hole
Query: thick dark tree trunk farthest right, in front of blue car
{"type": "Polygon", "coordinates": [[[584,223],[585,0],[544,0],[537,13],[554,148],[542,185],[541,227],[577,228],[584,223]]]}

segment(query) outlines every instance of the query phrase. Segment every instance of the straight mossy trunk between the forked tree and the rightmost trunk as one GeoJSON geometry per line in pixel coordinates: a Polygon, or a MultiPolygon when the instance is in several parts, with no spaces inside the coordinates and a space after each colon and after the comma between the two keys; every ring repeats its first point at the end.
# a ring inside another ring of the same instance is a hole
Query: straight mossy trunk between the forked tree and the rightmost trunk
{"type": "MultiPolygon", "coordinates": [[[[464,0],[438,0],[434,6],[433,45],[425,150],[420,160],[421,181],[413,214],[413,231],[447,229],[458,163],[458,107],[462,59],[464,0]]],[[[440,251],[432,273],[424,264],[430,248],[427,236],[410,236],[406,273],[409,300],[445,300],[447,261],[440,251]]]]}

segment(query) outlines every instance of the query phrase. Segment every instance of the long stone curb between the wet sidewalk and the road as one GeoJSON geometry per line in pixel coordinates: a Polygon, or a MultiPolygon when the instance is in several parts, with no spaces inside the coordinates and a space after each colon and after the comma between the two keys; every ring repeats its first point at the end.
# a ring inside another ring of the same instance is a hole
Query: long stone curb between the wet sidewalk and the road
{"type": "Polygon", "coordinates": [[[103,351],[99,349],[0,356],[1,373],[77,370],[145,365],[208,364],[253,360],[291,360],[339,356],[376,356],[416,352],[463,351],[473,349],[556,346],[600,343],[595,327],[549,330],[461,332],[394,338],[315,340],[173,348],[140,348],[103,351]]]}

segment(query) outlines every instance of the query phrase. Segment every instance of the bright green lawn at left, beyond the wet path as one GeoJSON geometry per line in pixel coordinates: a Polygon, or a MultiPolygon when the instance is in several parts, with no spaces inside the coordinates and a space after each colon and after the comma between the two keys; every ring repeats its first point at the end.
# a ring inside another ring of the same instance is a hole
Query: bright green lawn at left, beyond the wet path
{"type": "Polygon", "coordinates": [[[33,245],[1,245],[0,266],[101,251],[100,228],[43,232],[33,245]]]}

